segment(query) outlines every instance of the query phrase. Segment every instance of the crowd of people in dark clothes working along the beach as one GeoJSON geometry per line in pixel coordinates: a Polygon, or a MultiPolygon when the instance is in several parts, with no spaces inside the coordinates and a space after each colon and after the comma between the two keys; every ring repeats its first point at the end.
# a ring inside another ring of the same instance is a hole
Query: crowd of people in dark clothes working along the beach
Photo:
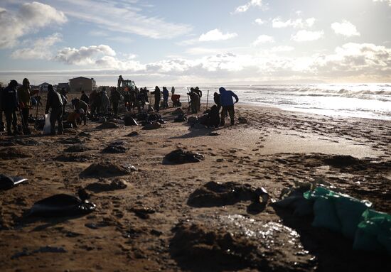
{"type": "MultiPolygon", "coordinates": [[[[153,92],[150,92],[151,96],[154,95],[154,111],[159,112],[161,107],[168,108],[169,92],[166,87],[163,90],[156,86],[153,92]],[[163,101],[161,101],[163,97],[163,101]]],[[[52,85],[48,85],[48,94],[45,105],[45,114],[49,114],[50,111],[50,134],[62,134],[63,133],[63,121],[67,124],[72,124],[73,127],[84,123],[87,124],[87,117],[90,119],[97,119],[99,116],[112,116],[117,117],[119,114],[119,104],[124,101],[124,108],[127,111],[144,110],[146,104],[148,104],[148,110],[151,110],[149,106],[149,90],[144,88],[119,89],[119,87],[111,87],[109,94],[105,87],[102,87],[100,91],[94,89],[89,95],[84,91],[81,92],[80,98],[74,98],[71,100],[71,111],[66,111],[66,105],[68,104],[68,94],[66,90],[55,90],[52,85]],[[57,126],[56,126],[57,125],[57,126]],[[57,132],[55,129],[57,128],[57,132]]],[[[197,114],[200,111],[200,99],[203,92],[199,87],[191,87],[188,92],[189,107],[188,110],[192,114],[197,114]]],[[[175,88],[171,88],[171,100],[173,107],[181,107],[179,101],[180,95],[175,94],[175,88]]],[[[225,124],[225,117],[227,114],[230,116],[231,124],[234,124],[235,110],[234,104],[239,101],[237,95],[226,90],[224,87],[220,87],[219,93],[214,94],[215,108],[213,111],[217,111],[220,115],[220,126],[225,124]],[[235,99],[235,102],[233,101],[235,99]],[[221,112],[220,112],[221,109],[221,112]]],[[[31,134],[28,127],[28,120],[31,119],[30,110],[33,104],[41,104],[41,97],[38,96],[38,90],[31,90],[30,82],[27,78],[23,79],[22,85],[18,85],[16,80],[11,80],[9,85],[3,89],[0,89],[0,131],[7,131],[9,136],[16,134],[31,134]],[[34,97],[34,95],[36,95],[34,97]],[[17,114],[19,112],[19,114],[17,114]],[[3,122],[3,113],[6,119],[6,126],[3,122]],[[21,124],[18,125],[18,115],[20,115],[21,124]]],[[[38,111],[37,111],[38,113],[38,111]]]]}

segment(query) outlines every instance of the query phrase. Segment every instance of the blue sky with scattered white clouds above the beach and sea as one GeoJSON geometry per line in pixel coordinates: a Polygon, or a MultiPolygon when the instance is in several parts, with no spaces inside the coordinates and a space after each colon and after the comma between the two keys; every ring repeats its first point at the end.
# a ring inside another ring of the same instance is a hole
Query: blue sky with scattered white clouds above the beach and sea
{"type": "Polygon", "coordinates": [[[0,82],[391,82],[391,0],[0,2],[0,82]]]}

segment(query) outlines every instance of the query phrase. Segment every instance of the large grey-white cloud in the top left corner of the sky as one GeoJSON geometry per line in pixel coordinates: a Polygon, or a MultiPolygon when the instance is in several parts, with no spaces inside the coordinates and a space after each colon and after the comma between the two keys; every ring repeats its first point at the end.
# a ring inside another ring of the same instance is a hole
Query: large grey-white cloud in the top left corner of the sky
{"type": "Polygon", "coordinates": [[[39,2],[22,4],[16,13],[0,9],[0,48],[12,48],[18,38],[66,21],[63,12],[39,2]]]}

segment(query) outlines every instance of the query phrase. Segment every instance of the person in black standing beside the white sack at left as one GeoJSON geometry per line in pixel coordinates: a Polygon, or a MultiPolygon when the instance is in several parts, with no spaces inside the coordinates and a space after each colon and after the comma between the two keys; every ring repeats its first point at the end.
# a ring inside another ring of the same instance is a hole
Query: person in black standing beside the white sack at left
{"type": "Polygon", "coordinates": [[[48,85],[48,99],[46,101],[45,114],[50,112],[51,134],[55,135],[55,123],[58,123],[58,134],[63,134],[63,99],[61,94],[55,92],[52,85],[48,85]]]}

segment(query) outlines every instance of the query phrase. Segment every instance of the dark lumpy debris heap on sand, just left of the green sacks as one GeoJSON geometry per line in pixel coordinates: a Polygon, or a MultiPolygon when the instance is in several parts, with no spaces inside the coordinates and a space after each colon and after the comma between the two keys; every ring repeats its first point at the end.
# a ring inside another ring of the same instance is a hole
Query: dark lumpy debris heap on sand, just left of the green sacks
{"type": "Polygon", "coordinates": [[[261,189],[255,189],[249,184],[234,182],[216,183],[210,181],[203,187],[196,189],[188,197],[188,205],[192,207],[215,207],[234,205],[241,201],[259,201],[262,194],[261,189]]]}

